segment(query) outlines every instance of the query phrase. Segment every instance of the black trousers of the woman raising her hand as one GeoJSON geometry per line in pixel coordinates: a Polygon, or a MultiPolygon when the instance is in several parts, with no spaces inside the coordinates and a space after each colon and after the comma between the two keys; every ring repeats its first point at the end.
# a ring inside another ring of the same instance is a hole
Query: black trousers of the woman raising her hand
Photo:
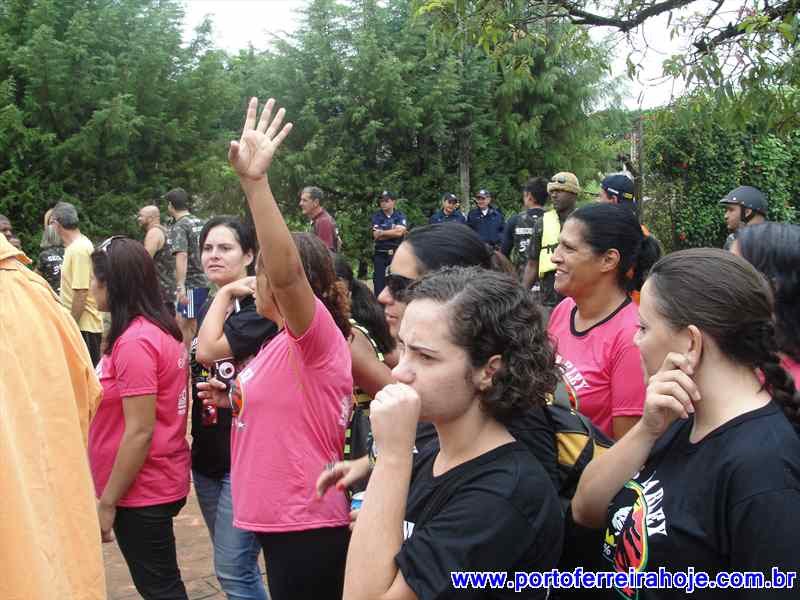
{"type": "Polygon", "coordinates": [[[350,531],[257,533],[272,600],[341,600],[350,531]]]}

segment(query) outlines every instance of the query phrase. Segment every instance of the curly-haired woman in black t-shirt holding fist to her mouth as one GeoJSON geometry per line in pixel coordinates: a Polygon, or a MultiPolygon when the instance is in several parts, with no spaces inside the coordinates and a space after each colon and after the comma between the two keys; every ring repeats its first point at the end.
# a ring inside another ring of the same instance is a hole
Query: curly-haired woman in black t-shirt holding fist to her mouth
{"type": "Polygon", "coordinates": [[[350,542],[345,597],[438,598],[453,571],[554,568],[558,497],[506,425],[544,405],[556,384],[533,298],[513,277],[455,267],[424,276],[405,300],[398,383],[371,407],[380,453],[350,542]],[[437,440],[415,455],[418,420],[433,423],[437,440]]]}

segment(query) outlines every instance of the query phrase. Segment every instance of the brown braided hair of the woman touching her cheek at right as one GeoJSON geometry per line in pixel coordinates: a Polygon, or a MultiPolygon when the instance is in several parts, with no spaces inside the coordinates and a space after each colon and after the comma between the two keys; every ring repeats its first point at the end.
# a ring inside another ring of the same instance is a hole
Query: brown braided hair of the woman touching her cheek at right
{"type": "Polygon", "coordinates": [[[800,392],[778,355],[772,291],[749,262],[725,250],[681,250],[658,261],[648,281],[673,328],[695,325],[731,360],[759,369],[764,388],[800,426],[800,392]]]}

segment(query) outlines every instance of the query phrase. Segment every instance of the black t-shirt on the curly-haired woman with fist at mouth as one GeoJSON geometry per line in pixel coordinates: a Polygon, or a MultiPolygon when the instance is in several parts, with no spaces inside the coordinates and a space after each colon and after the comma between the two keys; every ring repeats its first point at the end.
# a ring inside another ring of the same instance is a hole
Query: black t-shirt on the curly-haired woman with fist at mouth
{"type": "Polygon", "coordinates": [[[404,525],[395,562],[420,600],[439,598],[545,598],[547,590],[452,587],[452,571],[545,571],[561,554],[563,519],[555,488],[521,442],[495,448],[433,476],[438,443],[414,462],[404,525]],[[465,476],[465,470],[468,474],[465,476]],[[462,479],[463,477],[463,479],[462,479]],[[436,491],[460,483],[427,522],[415,527],[436,491]]]}

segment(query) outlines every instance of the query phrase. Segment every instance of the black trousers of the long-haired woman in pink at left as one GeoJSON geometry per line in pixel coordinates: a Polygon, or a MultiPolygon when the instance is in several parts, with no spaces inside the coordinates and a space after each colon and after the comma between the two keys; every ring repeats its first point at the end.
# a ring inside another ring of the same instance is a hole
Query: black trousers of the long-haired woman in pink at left
{"type": "Polygon", "coordinates": [[[172,519],[186,498],[169,504],[117,508],[114,535],[136,591],[145,600],[188,600],[178,569],[172,519]]]}

